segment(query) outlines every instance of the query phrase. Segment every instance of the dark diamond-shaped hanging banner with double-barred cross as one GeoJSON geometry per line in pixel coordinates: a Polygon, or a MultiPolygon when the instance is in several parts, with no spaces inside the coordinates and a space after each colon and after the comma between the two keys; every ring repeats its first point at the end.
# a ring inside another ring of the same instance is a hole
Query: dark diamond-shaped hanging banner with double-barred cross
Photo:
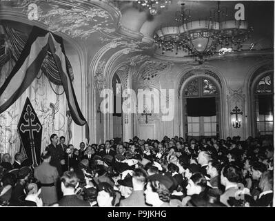
{"type": "Polygon", "coordinates": [[[20,151],[26,154],[34,169],[40,162],[42,125],[28,97],[17,125],[17,131],[21,139],[20,151]]]}

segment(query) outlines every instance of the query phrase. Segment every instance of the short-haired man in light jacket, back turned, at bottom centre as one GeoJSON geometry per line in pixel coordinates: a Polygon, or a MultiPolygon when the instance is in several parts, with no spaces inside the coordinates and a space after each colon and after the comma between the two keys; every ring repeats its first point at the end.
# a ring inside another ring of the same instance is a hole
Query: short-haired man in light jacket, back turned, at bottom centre
{"type": "Polygon", "coordinates": [[[143,169],[134,169],[132,176],[133,191],[128,198],[121,200],[120,206],[148,206],[145,204],[144,186],[147,173],[143,169]]]}

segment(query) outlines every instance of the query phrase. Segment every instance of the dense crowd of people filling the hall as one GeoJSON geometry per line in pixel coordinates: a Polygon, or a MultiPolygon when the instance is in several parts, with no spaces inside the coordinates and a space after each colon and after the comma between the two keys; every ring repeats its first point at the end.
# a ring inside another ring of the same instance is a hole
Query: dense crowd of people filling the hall
{"type": "Polygon", "coordinates": [[[0,157],[2,206],[273,206],[273,137],[50,142],[0,157]]]}

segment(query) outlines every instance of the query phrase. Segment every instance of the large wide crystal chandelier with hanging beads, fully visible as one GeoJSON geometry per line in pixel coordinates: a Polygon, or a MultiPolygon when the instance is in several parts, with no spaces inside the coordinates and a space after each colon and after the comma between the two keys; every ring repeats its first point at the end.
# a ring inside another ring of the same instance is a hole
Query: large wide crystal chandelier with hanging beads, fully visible
{"type": "Polygon", "coordinates": [[[181,3],[181,12],[176,12],[175,17],[180,26],[157,30],[154,42],[162,49],[163,55],[165,51],[178,55],[179,50],[183,50],[199,62],[221,48],[241,50],[252,28],[248,28],[247,21],[227,20],[227,17],[227,8],[221,8],[218,1],[217,7],[210,10],[209,18],[192,21],[190,10],[181,3]]]}

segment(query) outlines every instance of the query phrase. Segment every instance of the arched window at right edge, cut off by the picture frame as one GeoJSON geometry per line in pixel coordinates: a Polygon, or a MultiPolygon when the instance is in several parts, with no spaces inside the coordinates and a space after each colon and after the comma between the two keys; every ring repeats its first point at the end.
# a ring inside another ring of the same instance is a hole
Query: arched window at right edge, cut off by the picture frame
{"type": "Polygon", "coordinates": [[[259,79],[253,88],[254,119],[256,119],[256,135],[273,135],[274,125],[274,86],[273,73],[259,79]]]}

